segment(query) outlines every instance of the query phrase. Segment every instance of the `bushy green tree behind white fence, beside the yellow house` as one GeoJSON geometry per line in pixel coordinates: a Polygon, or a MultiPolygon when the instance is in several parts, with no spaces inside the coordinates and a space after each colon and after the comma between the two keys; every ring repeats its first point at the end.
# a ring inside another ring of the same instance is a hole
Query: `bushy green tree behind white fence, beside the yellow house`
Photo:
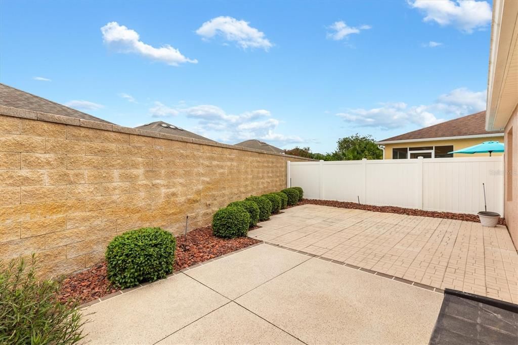
{"type": "Polygon", "coordinates": [[[339,139],[335,153],[336,157],[341,156],[341,161],[355,161],[363,158],[379,160],[383,158],[383,151],[378,148],[372,136],[362,136],[357,133],[339,139]]]}

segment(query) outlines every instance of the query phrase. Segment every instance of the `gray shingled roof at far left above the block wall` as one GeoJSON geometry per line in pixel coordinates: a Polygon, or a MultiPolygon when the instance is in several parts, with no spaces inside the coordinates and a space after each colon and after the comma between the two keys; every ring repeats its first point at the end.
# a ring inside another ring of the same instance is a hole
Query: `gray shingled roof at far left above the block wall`
{"type": "Polygon", "coordinates": [[[68,116],[76,119],[90,120],[111,123],[109,121],[96,118],[85,112],[66,107],[51,100],[33,95],[0,83],[0,105],[12,108],[47,112],[55,115],[68,116]]]}

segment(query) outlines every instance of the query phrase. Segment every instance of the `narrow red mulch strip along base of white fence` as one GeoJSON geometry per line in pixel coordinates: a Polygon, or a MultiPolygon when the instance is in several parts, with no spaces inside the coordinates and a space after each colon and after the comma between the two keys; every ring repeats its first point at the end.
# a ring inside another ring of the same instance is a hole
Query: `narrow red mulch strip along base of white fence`
{"type": "MultiPolygon", "coordinates": [[[[303,199],[298,203],[298,205],[303,204],[312,204],[312,205],[322,205],[322,206],[333,206],[339,208],[352,208],[357,210],[365,210],[365,211],[373,211],[373,212],[385,212],[385,213],[397,213],[397,214],[407,214],[407,215],[421,215],[423,217],[433,217],[433,218],[444,218],[444,219],[455,219],[455,220],[463,220],[468,222],[479,222],[479,216],[476,214],[467,214],[467,213],[453,213],[453,212],[438,212],[438,211],[424,211],[413,208],[403,208],[403,207],[395,207],[395,206],[372,206],[372,205],[363,205],[357,203],[350,202],[338,202],[333,200],[315,200],[315,199],[303,199]]],[[[500,225],[506,225],[506,220],[500,218],[498,221],[500,225]]]]}

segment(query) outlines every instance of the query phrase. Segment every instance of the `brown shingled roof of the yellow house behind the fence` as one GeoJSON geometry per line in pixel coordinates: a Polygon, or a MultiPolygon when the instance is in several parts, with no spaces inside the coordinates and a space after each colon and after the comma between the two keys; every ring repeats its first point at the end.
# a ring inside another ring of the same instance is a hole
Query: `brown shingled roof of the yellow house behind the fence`
{"type": "Polygon", "coordinates": [[[487,132],[485,130],[485,110],[462,118],[453,119],[438,123],[433,126],[421,128],[420,130],[396,135],[395,137],[380,140],[397,141],[429,138],[460,137],[467,135],[497,134],[503,131],[487,132]]]}

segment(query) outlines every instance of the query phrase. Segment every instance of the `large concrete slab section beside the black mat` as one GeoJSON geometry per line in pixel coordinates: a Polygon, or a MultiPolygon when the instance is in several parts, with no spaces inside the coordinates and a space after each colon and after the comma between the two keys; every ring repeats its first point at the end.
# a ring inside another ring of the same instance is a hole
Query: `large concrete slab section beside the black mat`
{"type": "Polygon", "coordinates": [[[311,258],[235,301],[310,344],[427,344],[442,297],[311,258]]]}

